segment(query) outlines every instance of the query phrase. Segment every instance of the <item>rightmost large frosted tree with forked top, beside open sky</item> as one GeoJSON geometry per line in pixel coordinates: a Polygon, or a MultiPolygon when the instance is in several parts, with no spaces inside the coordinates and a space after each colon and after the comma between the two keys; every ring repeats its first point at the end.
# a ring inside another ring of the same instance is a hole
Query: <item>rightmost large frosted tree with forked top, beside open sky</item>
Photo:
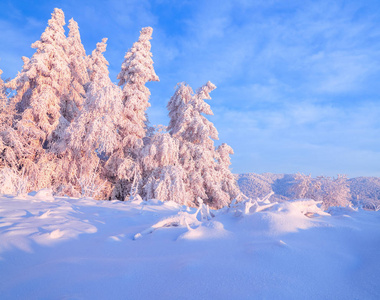
{"type": "Polygon", "coordinates": [[[214,140],[218,132],[204,115],[212,115],[204,99],[215,89],[211,82],[193,93],[192,89],[179,84],[168,103],[170,134],[179,141],[179,164],[186,173],[184,183],[196,203],[198,197],[213,207],[227,205],[237,196],[235,178],[229,170],[227,145],[216,151],[214,140]]]}

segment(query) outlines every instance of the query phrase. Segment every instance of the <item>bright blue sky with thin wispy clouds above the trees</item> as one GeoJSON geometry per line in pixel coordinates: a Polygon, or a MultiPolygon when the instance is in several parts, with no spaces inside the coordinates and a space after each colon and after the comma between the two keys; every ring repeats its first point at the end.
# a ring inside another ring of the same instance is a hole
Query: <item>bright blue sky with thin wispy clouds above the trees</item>
{"type": "Polygon", "coordinates": [[[1,0],[3,78],[33,55],[54,7],[79,23],[88,54],[108,37],[114,81],[153,27],[153,124],[167,125],[178,82],[213,82],[210,120],[235,151],[233,172],[380,176],[378,0],[1,0]]]}

